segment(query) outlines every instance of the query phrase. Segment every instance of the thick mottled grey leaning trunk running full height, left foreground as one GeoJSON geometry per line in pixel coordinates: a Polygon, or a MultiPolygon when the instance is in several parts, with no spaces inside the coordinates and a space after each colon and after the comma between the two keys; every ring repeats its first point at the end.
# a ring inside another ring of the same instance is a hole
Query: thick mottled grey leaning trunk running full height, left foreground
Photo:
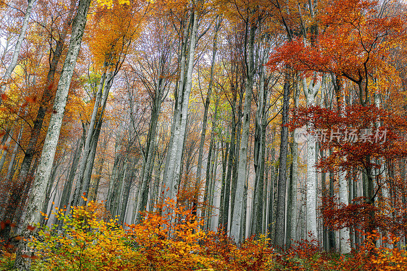
{"type": "Polygon", "coordinates": [[[23,241],[29,239],[31,231],[27,228],[28,225],[35,225],[40,222],[41,214],[38,212],[44,205],[44,198],[48,180],[51,174],[52,163],[55,157],[56,144],[58,142],[62,119],[64,117],[65,106],[68,99],[69,86],[71,84],[72,75],[74,72],[76,59],[79,54],[80,44],[82,42],[82,35],[86,24],[86,15],[88,14],[89,5],[91,0],[83,0],[79,2],[78,12],[75,16],[72,35],[65,59],[64,67],[61,72],[60,81],[55,94],[55,101],[53,106],[53,114],[51,115],[47,135],[45,137],[44,146],[41,153],[40,163],[37,168],[37,174],[32,187],[30,200],[26,208],[25,221],[23,223],[22,236],[17,256],[15,260],[15,268],[22,270],[30,269],[30,262],[26,258],[21,257],[22,254],[27,253],[27,242],[23,241]]]}

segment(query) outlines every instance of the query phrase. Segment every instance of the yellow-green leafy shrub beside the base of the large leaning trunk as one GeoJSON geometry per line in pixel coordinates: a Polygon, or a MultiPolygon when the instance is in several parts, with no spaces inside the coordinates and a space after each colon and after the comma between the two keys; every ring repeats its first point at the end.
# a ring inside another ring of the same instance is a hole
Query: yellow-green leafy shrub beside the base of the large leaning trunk
{"type": "Polygon", "coordinates": [[[136,266],[137,253],[128,246],[127,232],[114,220],[98,219],[93,202],[76,207],[70,216],[59,212],[64,232],[45,227],[32,239],[46,270],[123,270],[136,266]]]}

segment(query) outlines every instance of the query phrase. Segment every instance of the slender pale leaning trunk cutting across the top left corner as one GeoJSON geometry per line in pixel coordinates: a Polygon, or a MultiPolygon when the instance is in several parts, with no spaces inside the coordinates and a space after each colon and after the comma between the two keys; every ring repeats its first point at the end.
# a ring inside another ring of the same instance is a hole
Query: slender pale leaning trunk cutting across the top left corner
{"type": "MultiPolygon", "coordinates": [[[[4,94],[4,92],[6,91],[6,82],[9,80],[11,73],[14,71],[15,67],[18,64],[18,56],[20,55],[21,45],[22,45],[22,42],[25,37],[25,32],[27,31],[28,20],[30,19],[31,11],[33,10],[33,6],[34,6],[35,2],[36,2],[36,0],[28,0],[28,6],[27,6],[27,9],[25,10],[24,20],[23,20],[23,23],[21,26],[20,35],[18,36],[16,46],[14,47],[13,57],[11,59],[11,63],[9,65],[9,67],[7,67],[7,70],[2,78],[2,89],[1,89],[0,94],[4,94]]],[[[1,99],[0,99],[0,104],[2,104],[1,99]]]]}

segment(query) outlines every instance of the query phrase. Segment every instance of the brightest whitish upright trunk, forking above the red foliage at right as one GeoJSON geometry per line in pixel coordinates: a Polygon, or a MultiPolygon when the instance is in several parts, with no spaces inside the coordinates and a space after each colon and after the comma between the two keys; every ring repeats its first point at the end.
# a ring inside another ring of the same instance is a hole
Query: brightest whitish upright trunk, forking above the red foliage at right
{"type": "MultiPolygon", "coordinates": [[[[305,75],[302,77],[303,91],[307,100],[307,107],[314,105],[316,94],[321,86],[319,79],[314,82],[312,79],[307,85],[305,75]]],[[[307,126],[307,130],[309,127],[307,126]]],[[[316,228],[316,168],[315,168],[315,138],[311,133],[307,134],[307,201],[306,201],[306,225],[307,238],[317,237],[316,228]]]]}

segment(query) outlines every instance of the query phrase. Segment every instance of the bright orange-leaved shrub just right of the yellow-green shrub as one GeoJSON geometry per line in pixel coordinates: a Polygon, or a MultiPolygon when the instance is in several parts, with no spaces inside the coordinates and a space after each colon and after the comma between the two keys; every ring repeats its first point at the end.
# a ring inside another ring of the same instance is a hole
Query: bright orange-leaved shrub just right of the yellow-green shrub
{"type": "Polygon", "coordinates": [[[206,233],[203,221],[192,215],[192,209],[176,206],[166,200],[155,213],[146,213],[136,225],[128,225],[129,236],[140,253],[138,270],[195,270],[211,267],[213,259],[203,256],[199,242],[206,233]]]}

